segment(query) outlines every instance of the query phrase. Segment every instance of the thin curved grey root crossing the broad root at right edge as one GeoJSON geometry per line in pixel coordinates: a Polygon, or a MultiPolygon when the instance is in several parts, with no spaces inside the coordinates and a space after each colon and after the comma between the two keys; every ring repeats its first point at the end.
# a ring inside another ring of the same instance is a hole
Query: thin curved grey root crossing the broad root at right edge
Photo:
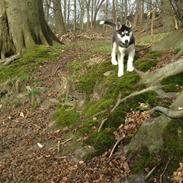
{"type": "Polygon", "coordinates": [[[156,106],[150,110],[150,113],[154,111],[159,111],[170,118],[181,118],[183,117],[183,110],[171,110],[162,106],[156,106]]]}

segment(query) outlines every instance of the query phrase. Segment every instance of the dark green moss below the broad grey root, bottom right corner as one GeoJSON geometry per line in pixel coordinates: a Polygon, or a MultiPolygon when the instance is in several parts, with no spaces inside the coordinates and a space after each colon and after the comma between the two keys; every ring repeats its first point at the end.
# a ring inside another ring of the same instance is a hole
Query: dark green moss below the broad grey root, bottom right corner
{"type": "Polygon", "coordinates": [[[142,148],[133,157],[130,168],[132,173],[144,173],[144,169],[150,169],[159,164],[155,176],[159,176],[166,169],[166,177],[172,175],[172,172],[179,167],[183,157],[183,118],[172,120],[166,127],[163,134],[163,147],[160,152],[150,154],[147,148],[142,148]]]}

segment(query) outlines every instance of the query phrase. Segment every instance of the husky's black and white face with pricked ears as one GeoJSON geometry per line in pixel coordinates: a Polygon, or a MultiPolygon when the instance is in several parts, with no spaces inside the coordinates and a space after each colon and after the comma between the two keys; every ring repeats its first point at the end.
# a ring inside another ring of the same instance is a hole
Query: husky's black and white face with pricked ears
{"type": "Polygon", "coordinates": [[[132,37],[131,24],[120,25],[118,23],[116,26],[116,33],[119,41],[128,46],[132,37]]]}

